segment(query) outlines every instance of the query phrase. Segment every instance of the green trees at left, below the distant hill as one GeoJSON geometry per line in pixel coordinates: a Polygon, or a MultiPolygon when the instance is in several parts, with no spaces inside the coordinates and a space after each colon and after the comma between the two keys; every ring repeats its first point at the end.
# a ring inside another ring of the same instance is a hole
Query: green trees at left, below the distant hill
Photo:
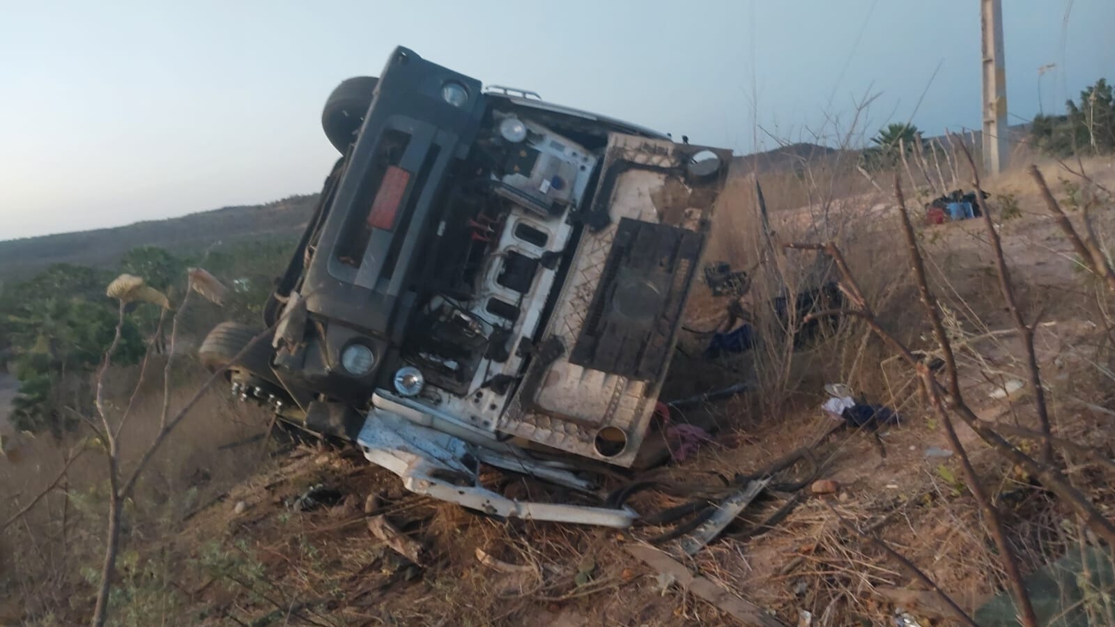
{"type": "MultiPolygon", "coordinates": [[[[259,324],[273,277],[285,267],[292,248],[289,238],[272,238],[180,257],[142,245],[125,252],[115,270],[57,263],[0,284],[0,365],[20,383],[13,425],[60,437],[76,426],[79,412],[89,409],[90,373],[112,344],[118,319],[117,305],[105,296],[105,288],[118,272],[143,277],[173,306],[183,297],[176,279],[191,266],[204,266],[230,287],[222,317],[259,324]]],[[[135,364],[144,354],[145,338],[157,329],[157,308],[130,307],[134,311],[125,318],[113,355],[117,365],[135,364]]],[[[156,346],[162,348],[162,343],[156,346]]]]}

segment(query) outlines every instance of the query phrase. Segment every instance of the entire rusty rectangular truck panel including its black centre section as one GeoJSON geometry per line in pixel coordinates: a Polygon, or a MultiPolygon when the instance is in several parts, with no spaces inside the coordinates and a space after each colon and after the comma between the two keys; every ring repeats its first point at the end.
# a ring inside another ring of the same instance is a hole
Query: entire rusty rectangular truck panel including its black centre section
{"type": "Polygon", "coordinates": [[[535,359],[498,430],[630,466],[669,368],[730,151],[612,135],[535,359]],[[695,156],[708,158],[695,161],[695,156]]]}

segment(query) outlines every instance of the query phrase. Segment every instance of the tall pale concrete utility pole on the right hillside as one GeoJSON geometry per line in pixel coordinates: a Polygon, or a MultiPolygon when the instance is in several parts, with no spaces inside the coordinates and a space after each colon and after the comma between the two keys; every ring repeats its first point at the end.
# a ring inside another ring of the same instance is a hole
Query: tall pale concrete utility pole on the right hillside
{"type": "Polygon", "coordinates": [[[1007,166],[1007,62],[1002,54],[1002,0],[980,0],[983,35],[983,170],[1007,166]]]}

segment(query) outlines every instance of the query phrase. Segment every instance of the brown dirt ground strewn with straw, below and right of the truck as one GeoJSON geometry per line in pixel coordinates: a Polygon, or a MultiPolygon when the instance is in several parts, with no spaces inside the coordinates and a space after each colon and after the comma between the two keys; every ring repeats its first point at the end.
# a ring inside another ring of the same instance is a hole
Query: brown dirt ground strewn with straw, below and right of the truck
{"type": "MultiPolygon", "coordinates": [[[[1112,164],[1088,165],[1097,182],[1115,186],[1112,164]]],[[[1053,184],[1056,179],[1049,177],[1053,184]]],[[[715,230],[719,241],[711,247],[712,258],[737,267],[749,264],[754,255],[748,251],[757,250],[740,235],[755,234],[748,184],[740,179],[729,187],[715,230]]],[[[1072,200],[1064,185],[1055,186],[1066,202],[1072,200]]],[[[1022,286],[1022,308],[1030,317],[1040,314],[1036,347],[1056,431],[1109,457],[1115,412],[1105,392],[1109,364],[1097,357],[1103,341],[1097,337],[1104,334],[1097,336],[1096,292],[1028,177],[1014,173],[987,182],[986,189],[995,194],[992,202],[1008,195],[1017,201],[1019,215],[997,219],[998,228],[1022,286]]],[[[773,208],[777,199],[776,191],[767,195],[773,208]]],[[[909,266],[893,201],[883,194],[846,197],[825,213],[830,210],[850,216],[850,224],[871,224],[862,235],[833,237],[852,247],[849,263],[878,297],[882,321],[914,348],[931,348],[920,303],[903,283],[909,266]]],[[[1107,205],[1097,215],[1101,235],[1115,229],[1109,212],[1107,205]]],[[[816,206],[772,214],[783,241],[817,241],[816,206]]],[[[1078,219],[1078,212],[1073,215],[1078,219]]],[[[1012,388],[1012,380],[1025,379],[1025,369],[998,295],[982,222],[925,226],[920,235],[950,334],[962,345],[958,358],[964,397],[981,419],[1032,426],[1025,388],[1002,393],[1012,388]]],[[[1105,302],[1103,297],[1098,301],[1105,302]]],[[[723,299],[705,290],[694,299],[687,325],[700,330],[724,307],[723,299]]],[[[766,498],[729,528],[728,537],[686,565],[786,625],[894,625],[902,612],[918,625],[951,625],[923,585],[845,530],[841,520],[878,532],[968,611],[1002,589],[1001,566],[958,479],[957,456],[947,451],[940,421],[918,396],[910,369],[889,359],[890,353],[864,329],[842,326],[840,332],[840,359],[831,355],[837,350],[835,339],[794,354],[789,375],[783,377],[794,383],[779,388],[784,394],[777,403],[773,393],[753,393],[705,406],[719,427],[712,440],[656,475],[723,486],[737,474],[758,472],[816,443],[815,471],[797,463],[777,479],[830,480],[833,491],[814,494],[806,488],[784,520],[759,528],[789,495],[766,498]],[[821,386],[840,382],[898,409],[899,424],[880,428],[878,437],[844,431],[821,440],[837,424],[820,411],[821,386]]],[[[740,379],[767,389],[764,373],[752,363],[752,357],[755,363],[766,357],[745,355],[710,366],[696,358],[705,338],[699,332],[682,338],[686,353],[677,358],[668,389],[683,395],[740,379]]],[[[1069,512],[1036,489],[1032,478],[1002,464],[971,430],[959,426],[958,432],[973,464],[997,478],[988,489],[1005,511],[1024,570],[1063,552],[1074,537],[1069,512]]],[[[493,475],[492,481],[502,480],[493,475]]],[[[612,480],[610,486],[619,484],[612,480]]],[[[530,498],[545,498],[550,490],[514,478],[504,489],[530,498]]],[[[1090,494],[1104,511],[1115,504],[1109,490],[1090,494]]],[[[681,501],[647,493],[631,504],[649,513],[681,501]]],[[[351,450],[298,446],[264,472],[212,490],[206,502],[180,514],[172,528],[173,533],[136,547],[132,566],[125,567],[136,572],[125,576],[122,586],[146,619],[136,624],[737,624],[721,607],[672,585],[626,550],[647,544],[660,528],[621,532],[483,517],[406,493],[392,475],[351,450]],[[299,496],[314,486],[320,486],[314,491],[319,502],[300,505],[299,496]],[[368,511],[420,542],[421,563],[400,558],[372,537],[368,511]],[[140,576],[137,565],[158,569],[140,576]]]]}

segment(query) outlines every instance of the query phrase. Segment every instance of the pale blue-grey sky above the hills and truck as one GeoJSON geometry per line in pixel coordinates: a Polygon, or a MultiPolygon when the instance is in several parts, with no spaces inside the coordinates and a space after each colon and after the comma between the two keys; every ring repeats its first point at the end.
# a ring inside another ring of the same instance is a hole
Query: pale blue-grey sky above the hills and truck
{"type": "MultiPolygon", "coordinates": [[[[1012,123],[1039,66],[1046,113],[1115,80],[1115,0],[1002,3],[1012,123]]],[[[978,0],[0,0],[0,240],[316,192],[326,96],[396,45],[740,153],[865,94],[866,135],[980,125],[978,0]]]]}

